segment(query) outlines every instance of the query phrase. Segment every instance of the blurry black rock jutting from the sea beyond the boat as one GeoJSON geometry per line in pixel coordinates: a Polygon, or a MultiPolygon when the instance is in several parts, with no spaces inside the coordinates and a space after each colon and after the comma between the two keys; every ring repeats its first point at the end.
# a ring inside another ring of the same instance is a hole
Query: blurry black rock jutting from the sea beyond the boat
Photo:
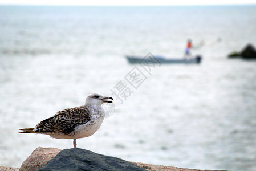
{"type": "Polygon", "coordinates": [[[247,44],[247,46],[243,48],[242,52],[233,52],[228,56],[229,58],[241,57],[243,59],[256,59],[256,49],[253,45],[247,44]]]}

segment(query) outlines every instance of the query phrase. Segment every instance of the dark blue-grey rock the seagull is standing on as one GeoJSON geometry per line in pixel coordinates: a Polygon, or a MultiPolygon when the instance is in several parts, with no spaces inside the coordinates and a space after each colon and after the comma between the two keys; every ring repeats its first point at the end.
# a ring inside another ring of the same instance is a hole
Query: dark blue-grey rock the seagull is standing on
{"type": "Polygon", "coordinates": [[[49,170],[145,170],[121,160],[80,148],[64,149],[50,160],[40,171],[49,170]]]}

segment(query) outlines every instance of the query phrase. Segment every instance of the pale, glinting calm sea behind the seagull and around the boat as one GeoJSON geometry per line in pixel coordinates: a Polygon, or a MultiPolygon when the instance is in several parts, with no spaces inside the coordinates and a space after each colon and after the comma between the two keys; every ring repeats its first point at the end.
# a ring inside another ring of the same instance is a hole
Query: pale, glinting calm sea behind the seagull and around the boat
{"type": "Polygon", "coordinates": [[[256,46],[255,33],[256,6],[0,6],[0,165],[21,166],[38,146],[72,148],[72,140],[18,129],[100,93],[115,99],[115,113],[79,148],[157,165],[256,170],[256,61],[227,59],[256,46]],[[188,39],[200,65],[148,71],[124,56],[181,58],[188,39]]]}

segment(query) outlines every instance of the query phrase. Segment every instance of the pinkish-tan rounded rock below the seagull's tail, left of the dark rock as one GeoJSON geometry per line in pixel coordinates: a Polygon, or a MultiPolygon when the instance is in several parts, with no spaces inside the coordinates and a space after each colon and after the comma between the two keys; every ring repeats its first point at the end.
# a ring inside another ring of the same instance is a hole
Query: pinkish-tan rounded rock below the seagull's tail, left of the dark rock
{"type": "Polygon", "coordinates": [[[58,148],[42,148],[38,147],[32,154],[23,161],[19,170],[34,171],[42,168],[61,151],[58,148]]]}

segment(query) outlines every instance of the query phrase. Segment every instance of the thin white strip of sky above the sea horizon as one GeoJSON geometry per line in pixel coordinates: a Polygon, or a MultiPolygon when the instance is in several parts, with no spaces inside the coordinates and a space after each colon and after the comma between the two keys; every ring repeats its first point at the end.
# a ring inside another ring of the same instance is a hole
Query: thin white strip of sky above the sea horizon
{"type": "Polygon", "coordinates": [[[0,0],[0,4],[7,5],[242,5],[254,4],[256,0],[157,0],[157,1],[141,1],[141,0],[0,0]]]}

